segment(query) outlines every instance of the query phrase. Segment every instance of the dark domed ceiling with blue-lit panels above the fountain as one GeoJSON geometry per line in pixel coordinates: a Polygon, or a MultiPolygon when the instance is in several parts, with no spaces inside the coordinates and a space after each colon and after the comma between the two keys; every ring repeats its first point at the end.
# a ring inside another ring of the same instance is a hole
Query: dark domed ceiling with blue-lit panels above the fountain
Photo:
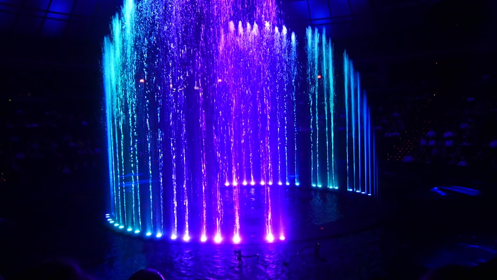
{"type": "MultiPolygon", "coordinates": [[[[395,46],[399,40],[412,35],[419,38],[408,44],[426,45],[433,43],[423,41],[433,35],[431,33],[447,33],[447,29],[457,24],[459,29],[481,33],[482,24],[475,22],[492,21],[492,12],[496,14],[495,2],[281,0],[281,9],[284,22],[298,31],[297,34],[308,25],[326,28],[335,42],[349,42],[350,48],[359,43],[371,45],[374,43],[371,41],[379,41],[378,38],[384,45],[395,46]],[[397,42],[388,41],[392,36],[397,42]],[[351,44],[350,40],[356,42],[351,44]]],[[[0,34],[101,41],[108,33],[110,17],[121,4],[122,0],[0,0],[0,34]]],[[[496,37],[495,28],[492,35],[496,37]]]]}

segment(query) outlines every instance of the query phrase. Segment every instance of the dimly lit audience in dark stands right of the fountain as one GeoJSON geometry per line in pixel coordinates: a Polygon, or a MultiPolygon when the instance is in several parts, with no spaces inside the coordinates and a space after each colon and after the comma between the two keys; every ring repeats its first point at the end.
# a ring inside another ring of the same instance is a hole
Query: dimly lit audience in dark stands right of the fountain
{"type": "Polygon", "coordinates": [[[397,96],[375,108],[383,157],[413,141],[407,163],[497,169],[497,99],[490,92],[397,96]]]}

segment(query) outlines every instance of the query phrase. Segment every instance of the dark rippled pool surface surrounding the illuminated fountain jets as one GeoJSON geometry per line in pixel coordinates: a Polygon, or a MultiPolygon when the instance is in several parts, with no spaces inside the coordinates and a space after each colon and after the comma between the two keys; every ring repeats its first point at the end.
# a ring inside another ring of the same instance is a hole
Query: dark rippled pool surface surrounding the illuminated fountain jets
{"type": "Polygon", "coordinates": [[[391,184],[374,201],[290,188],[285,195],[295,205],[288,209],[295,219],[289,240],[198,244],[115,232],[104,219],[100,181],[66,176],[30,186],[3,183],[0,274],[8,279],[63,256],[95,279],[127,279],[145,267],[169,279],[419,279],[431,268],[476,266],[496,256],[496,209],[484,195],[440,197],[431,186],[391,184]],[[238,268],[233,250],[259,258],[244,259],[238,268]]]}

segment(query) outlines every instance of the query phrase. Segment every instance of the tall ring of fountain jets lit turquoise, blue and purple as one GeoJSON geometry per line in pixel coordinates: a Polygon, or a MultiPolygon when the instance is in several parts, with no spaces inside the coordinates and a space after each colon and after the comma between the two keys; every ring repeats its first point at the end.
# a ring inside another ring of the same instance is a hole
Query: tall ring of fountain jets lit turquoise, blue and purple
{"type": "Polygon", "coordinates": [[[273,242],[291,228],[289,187],[376,193],[369,111],[348,59],[347,173],[338,175],[332,45],[311,29],[311,164],[299,154],[308,147],[297,121],[297,39],[278,15],[271,0],[125,1],[102,61],[115,228],[185,242],[273,242]]]}

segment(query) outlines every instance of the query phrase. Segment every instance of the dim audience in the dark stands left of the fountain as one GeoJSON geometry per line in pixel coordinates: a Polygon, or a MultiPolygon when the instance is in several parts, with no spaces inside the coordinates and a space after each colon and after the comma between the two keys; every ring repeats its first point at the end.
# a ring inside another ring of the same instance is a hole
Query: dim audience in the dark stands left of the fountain
{"type": "Polygon", "coordinates": [[[100,110],[56,97],[15,96],[2,103],[2,180],[82,173],[101,161],[100,110]]]}

